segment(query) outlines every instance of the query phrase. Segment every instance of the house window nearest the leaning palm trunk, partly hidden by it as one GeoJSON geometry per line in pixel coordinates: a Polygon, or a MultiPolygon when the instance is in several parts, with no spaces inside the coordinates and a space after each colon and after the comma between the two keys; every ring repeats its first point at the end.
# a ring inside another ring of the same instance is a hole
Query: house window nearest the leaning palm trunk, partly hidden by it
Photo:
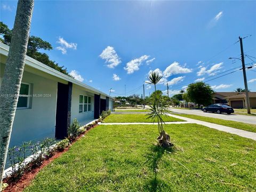
{"type": "Polygon", "coordinates": [[[21,83],[17,108],[28,108],[29,106],[30,86],[27,83],[21,83]]]}

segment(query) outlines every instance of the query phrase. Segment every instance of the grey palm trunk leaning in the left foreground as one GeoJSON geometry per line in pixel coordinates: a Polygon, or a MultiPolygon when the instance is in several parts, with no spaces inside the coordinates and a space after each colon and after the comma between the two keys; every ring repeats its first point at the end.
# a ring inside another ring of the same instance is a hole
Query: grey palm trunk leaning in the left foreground
{"type": "Polygon", "coordinates": [[[18,1],[9,54],[0,90],[0,95],[5,96],[0,97],[0,191],[2,190],[4,166],[25,66],[33,8],[34,0],[18,1]]]}

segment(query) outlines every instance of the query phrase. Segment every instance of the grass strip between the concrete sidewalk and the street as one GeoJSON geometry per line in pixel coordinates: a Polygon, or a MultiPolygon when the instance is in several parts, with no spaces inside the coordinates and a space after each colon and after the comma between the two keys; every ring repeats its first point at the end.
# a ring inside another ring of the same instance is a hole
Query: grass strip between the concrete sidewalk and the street
{"type": "Polygon", "coordinates": [[[228,121],[228,120],[212,118],[212,117],[203,117],[203,116],[199,116],[199,115],[175,114],[175,113],[172,113],[172,114],[182,116],[182,117],[197,119],[197,120],[205,121],[205,122],[209,122],[209,123],[225,125],[225,126],[233,127],[233,128],[236,128],[236,129],[241,129],[241,130],[251,131],[251,132],[256,133],[256,125],[255,124],[228,121]]]}

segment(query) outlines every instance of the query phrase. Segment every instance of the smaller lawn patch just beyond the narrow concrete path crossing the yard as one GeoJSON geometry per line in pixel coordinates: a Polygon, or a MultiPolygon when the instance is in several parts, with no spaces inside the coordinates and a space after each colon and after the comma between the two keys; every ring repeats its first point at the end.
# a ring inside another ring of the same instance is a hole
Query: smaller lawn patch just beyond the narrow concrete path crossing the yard
{"type": "MultiPolygon", "coordinates": [[[[147,119],[146,114],[111,114],[107,116],[103,123],[134,123],[134,122],[154,122],[152,119],[147,119]]],[[[164,116],[165,122],[181,122],[183,120],[164,116]]]]}

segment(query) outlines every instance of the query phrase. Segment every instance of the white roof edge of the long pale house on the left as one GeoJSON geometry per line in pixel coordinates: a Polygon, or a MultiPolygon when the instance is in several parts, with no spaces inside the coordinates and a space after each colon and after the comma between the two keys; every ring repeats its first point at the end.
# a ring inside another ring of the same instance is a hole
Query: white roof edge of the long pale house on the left
{"type": "MultiPolygon", "coordinates": [[[[7,57],[8,53],[9,53],[9,46],[0,42],[0,53],[7,57]]],[[[28,55],[26,55],[25,65],[36,68],[36,69],[41,70],[41,71],[44,71],[47,74],[53,75],[55,77],[59,77],[59,78],[65,80],[65,81],[71,82],[73,84],[82,86],[85,89],[88,89],[88,90],[91,90],[93,92],[97,92],[99,94],[102,94],[102,95],[105,95],[105,96],[109,97],[108,94],[103,93],[103,92],[93,88],[92,86],[89,86],[89,85],[86,85],[82,82],[79,82],[79,81],[77,81],[76,79],[74,79],[72,77],[69,77],[65,74],[62,74],[60,71],[57,71],[57,70],[45,65],[44,63],[39,62],[39,61],[29,57],[28,55]]],[[[113,97],[109,97],[109,98],[114,99],[113,97]]]]}

